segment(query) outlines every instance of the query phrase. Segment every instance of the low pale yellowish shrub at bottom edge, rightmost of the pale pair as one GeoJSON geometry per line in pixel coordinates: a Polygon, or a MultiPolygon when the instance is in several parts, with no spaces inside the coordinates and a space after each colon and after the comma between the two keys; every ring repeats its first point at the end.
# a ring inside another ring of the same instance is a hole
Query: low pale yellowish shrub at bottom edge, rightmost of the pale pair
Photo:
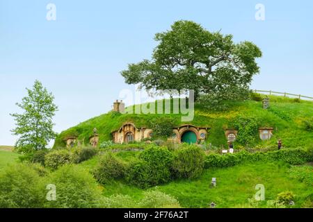
{"type": "Polygon", "coordinates": [[[179,208],[178,201],[161,191],[145,191],[144,198],[138,203],[141,208],[179,208]]]}

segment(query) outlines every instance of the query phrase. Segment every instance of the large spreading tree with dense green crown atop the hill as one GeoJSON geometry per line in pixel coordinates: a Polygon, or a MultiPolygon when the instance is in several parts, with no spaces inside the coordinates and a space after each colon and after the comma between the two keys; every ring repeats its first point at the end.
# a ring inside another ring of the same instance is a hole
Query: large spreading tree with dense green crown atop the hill
{"type": "Polygon", "coordinates": [[[195,22],[175,22],[169,31],[157,33],[159,42],[151,60],[130,64],[121,74],[128,84],[150,90],[186,89],[211,99],[236,99],[248,92],[252,76],[259,72],[262,56],[252,42],[235,44],[232,35],[210,33],[195,22]]]}

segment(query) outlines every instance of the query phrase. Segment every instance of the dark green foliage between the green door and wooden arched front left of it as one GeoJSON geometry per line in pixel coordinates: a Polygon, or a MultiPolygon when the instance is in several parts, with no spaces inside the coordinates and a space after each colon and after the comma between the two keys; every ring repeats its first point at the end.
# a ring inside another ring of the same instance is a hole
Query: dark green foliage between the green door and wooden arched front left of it
{"type": "Polygon", "coordinates": [[[174,127],[174,123],[174,119],[168,117],[151,119],[150,127],[153,131],[152,137],[168,137],[172,135],[172,128],[174,127]]]}

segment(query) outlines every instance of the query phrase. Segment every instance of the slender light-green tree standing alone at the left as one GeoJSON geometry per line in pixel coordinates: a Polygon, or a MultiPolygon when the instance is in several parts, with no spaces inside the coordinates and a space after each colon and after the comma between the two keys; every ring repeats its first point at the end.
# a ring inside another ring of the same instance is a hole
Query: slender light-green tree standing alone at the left
{"type": "Polygon", "coordinates": [[[56,137],[52,117],[58,110],[53,103],[54,96],[42,87],[40,81],[35,80],[33,89],[27,89],[27,94],[22,103],[16,103],[24,112],[10,114],[16,121],[13,135],[19,136],[15,147],[19,153],[24,154],[45,148],[49,141],[56,137]]]}

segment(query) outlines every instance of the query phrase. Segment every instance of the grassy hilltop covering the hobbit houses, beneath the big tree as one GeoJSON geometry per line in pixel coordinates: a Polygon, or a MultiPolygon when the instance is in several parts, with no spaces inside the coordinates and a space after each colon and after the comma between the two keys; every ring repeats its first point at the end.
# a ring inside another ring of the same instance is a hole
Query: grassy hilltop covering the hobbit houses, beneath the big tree
{"type": "MultiPolygon", "coordinates": [[[[111,133],[118,130],[123,123],[134,123],[137,128],[149,127],[151,120],[160,117],[172,119],[177,127],[186,123],[209,127],[206,143],[211,144],[210,146],[227,146],[226,128],[237,130],[240,128],[239,137],[242,138],[234,143],[236,148],[243,146],[273,148],[278,139],[282,139],[286,148],[312,146],[313,132],[310,130],[310,124],[313,117],[313,102],[297,101],[283,96],[269,98],[271,106],[268,110],[262,108],[262,101],[252,100],[227,101],[230,108],[223,112],[214,112],[205,108],[203,104],[196,104],[195,117],[190,122],[182,122],[182,114],[120,114],[111,111],[63,131],[56,138],[54,148],[64,147],[66,137],[84,139],[85,144],[88,144],[88,138],[93,135],[93,128],[97,128],[101,144],[103,141],[111,140],[111,133]],[[259,139],[257,130],[264,127],[273,128],[273,137],[266,141],[259,139]],[[244,135],[247,132],[249,135],[244,135]]],[[[131,109],[134,107],[127,108],[128,111],[131,109]]]]}

